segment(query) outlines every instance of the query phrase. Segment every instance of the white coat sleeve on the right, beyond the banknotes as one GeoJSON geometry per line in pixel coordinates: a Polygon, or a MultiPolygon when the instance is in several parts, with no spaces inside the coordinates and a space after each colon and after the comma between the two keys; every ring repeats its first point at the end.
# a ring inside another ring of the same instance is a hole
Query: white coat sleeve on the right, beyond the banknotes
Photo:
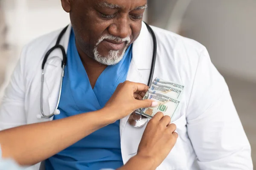
{"type": "Polygon", "coordinates": [[[253,170],[251,148],[224,78],[201,53],[186,113],[202,170],[253,170]]]}

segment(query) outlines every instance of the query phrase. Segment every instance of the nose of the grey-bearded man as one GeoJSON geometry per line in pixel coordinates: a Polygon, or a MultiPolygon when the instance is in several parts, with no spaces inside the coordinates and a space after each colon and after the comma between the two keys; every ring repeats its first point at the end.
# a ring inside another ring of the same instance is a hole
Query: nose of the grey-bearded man
{"type": "Polygon", "coordinates": [[[131,27],[126,17],[120,16],[108,27],[108,32],[119,38],[126,38],[131,35],[131,27]]]}

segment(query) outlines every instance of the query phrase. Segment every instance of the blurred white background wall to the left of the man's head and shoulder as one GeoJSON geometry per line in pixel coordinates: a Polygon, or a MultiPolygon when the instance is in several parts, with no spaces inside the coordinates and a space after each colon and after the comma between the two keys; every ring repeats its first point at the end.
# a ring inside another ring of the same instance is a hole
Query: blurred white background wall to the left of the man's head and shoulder
{"type": "Polygon", "coordinates": [[[12,71],[24,45],[43,34],[70,23],[69,15],[62,9],[60,0],[2,0],[8,26],[7,42],[10,48],[1,51],[0,99],[9,83],[12,71]],[[4,76],[3,76],[4,75],[4,76]]]}

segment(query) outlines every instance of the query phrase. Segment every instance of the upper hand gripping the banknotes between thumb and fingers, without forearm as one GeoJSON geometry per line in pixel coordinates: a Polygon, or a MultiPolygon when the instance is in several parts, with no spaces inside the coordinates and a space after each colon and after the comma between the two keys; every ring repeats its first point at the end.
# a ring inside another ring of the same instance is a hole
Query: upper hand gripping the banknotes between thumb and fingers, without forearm
{"type": "Polygon", "coordinates": [[[111,110],[111,116],[114,116],[116,121],[131,114],[136,109],[156,106],[157,102],[153,100],[142,100],[147,91],[148,86],[142,83],[129,81],[120,83],[104,109],[108,109],[106,113],[111,110]]]}

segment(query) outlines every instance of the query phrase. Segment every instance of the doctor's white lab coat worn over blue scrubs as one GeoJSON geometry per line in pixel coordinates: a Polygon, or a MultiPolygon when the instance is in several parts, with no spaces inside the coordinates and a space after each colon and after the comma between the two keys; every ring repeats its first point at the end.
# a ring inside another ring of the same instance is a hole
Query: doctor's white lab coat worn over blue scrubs
{"type": "MultiPolygon", "coordinates": [[[[158,170],[252,170],[251,149],[233,105],[224,78],[200,43],[152,27],[157,38],[154,77],[185,85],[181,103],[172,119],[179,138],[158,170]]],[[[71,26],[61,40],[67,50],[71,26]]],[[[40,111],[41,65],[44,54],[55,45],[61,30],[44,35],[24,48],[0,109],[0,130],[49,121],[36,118],[40,111]]],[[[133,44],[127,79],[147,84],[153,41],[143,23],[133,44]]],[[[44,112],[52,113],[61,81],[61,51],[47,61],[44,82],[44,112]]],[[[144,127],[120,120],[122,159],[136,155],[144,127]]],[[[47,128],[47,127],[45,127],[47,128]]],[[[44,134],[42,134],[44,135],[44,134]]],[[[35,170],[38,165],[35,166],[35,170]]]]}

